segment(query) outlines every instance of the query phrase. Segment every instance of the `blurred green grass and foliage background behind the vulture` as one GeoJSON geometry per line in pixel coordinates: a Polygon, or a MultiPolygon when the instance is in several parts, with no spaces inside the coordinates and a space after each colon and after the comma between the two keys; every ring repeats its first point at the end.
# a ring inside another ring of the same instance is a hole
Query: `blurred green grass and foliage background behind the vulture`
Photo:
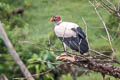
{"type": "MultiPolygon", "coordinates": [[[[111,1],[117,5],[117,0],[111,1]]],[[[113,48],[119,57],[120,30],[118,28],[120,27],[120,20],[101,6],[97,9],[106,22],[112,37],[113,48]]],[[[90,47],[112,56],[104,26],[87,0],[0,0],[0,20],[3,27],[15,50],[32,74],[39,74],[59,63],[56,61],[56,56],[60,53],[47,51],[41,47],[43,45],[49,49],[54,49],[54,47],[63,49],[60,40],[54,35],[53,23],[50,22],[50,18],[55,15],[61,16],[63,21],[79,24],[85,32],[83,17],[88,25],[90,47]],[[21,12],[16,13],[19,10],[21,12]]],[[[78,73],[80,73],[77,77],[78,80],[102,79],[99,73],[91,71],[85,74],[81,74],[81,71],[78,73]]],[[[10,80],[23,77],[0,38],[1,74],[5,74],[10,80]]],[[[106,79],[109,77],[107,76],[106,79]]],[[[70,73],[65,73],[64,68],[62,70],[60,68],[55,69],[51,73],[35,78],[36,80],[72,80],[70,73]]],[[[113,77],[110,78],[111,80],[118,80],[113,77]]]]}

